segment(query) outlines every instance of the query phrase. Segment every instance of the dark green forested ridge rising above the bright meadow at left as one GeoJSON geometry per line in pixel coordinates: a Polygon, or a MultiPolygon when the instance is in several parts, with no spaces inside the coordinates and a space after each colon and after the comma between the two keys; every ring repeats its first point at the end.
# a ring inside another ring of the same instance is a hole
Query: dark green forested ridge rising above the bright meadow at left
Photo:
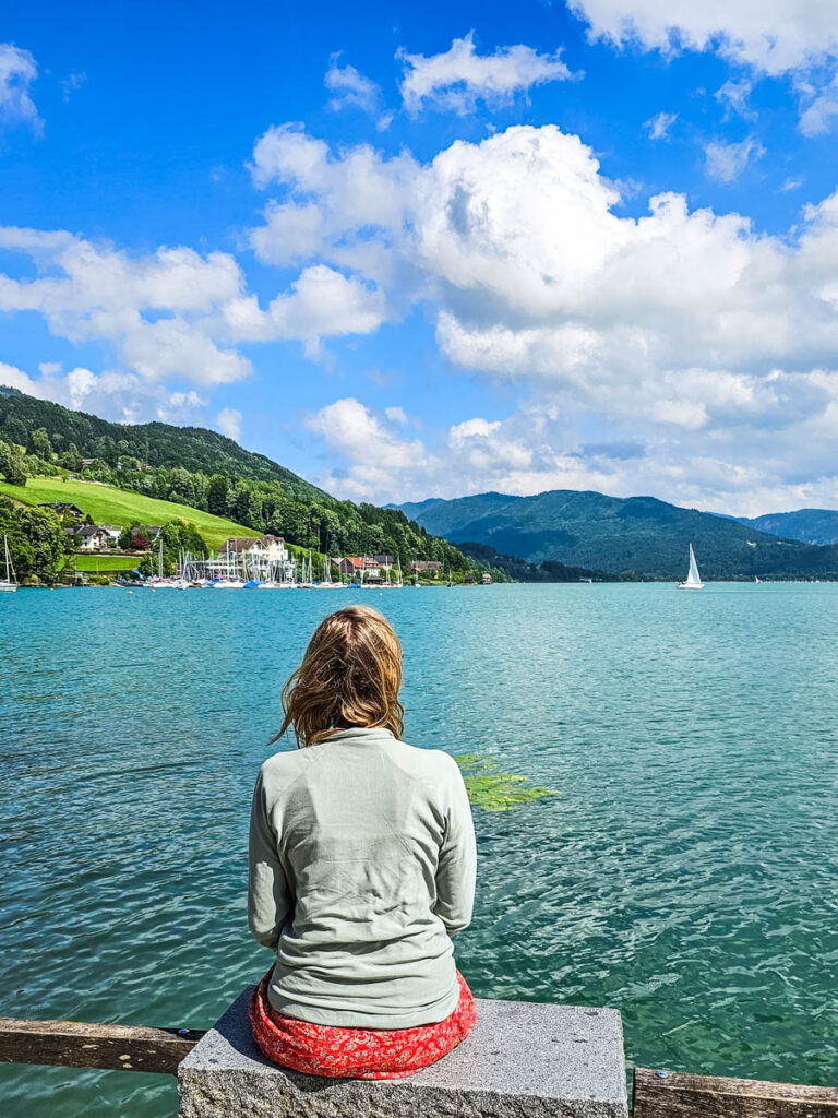
{"type": "Polygon", "coordinates": [[[83,458],[115,465],[132,457],[152,467],[180,467],[192,473],[229,474],[250,481],[280,482],[288,496],[316,500],[326,494],[264,454],[242,449],[238,443],[204,427],[174,427],[166,423],[108,423],[85,411],[25,396],[0,386],[0,438],[26,446],[34,430],[42,428],[59,454],[74,446],[83,458]]]}

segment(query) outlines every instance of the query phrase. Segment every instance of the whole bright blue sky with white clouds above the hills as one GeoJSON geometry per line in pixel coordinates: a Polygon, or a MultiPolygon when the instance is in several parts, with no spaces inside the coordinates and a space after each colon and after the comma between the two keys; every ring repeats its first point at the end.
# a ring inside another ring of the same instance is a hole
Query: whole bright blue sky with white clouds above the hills
{"type": "Polygon", "coordinates": [[[359,500],[838,506],[836,0],[12,2],[0,42],[0,382],[359,500]]]}

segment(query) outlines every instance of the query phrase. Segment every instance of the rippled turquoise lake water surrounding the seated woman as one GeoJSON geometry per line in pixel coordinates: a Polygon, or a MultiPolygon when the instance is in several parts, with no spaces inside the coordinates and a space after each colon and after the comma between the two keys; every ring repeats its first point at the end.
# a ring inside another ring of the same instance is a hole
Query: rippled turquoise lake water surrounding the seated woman
{"type": "MultiPolygon", "coordinates": [[[[627,1054],[838,1080],[838,586],[495,586],[0,600],[0,1015],[208,1027],[246,931],[279,688],[363,600],[406,738],[561,795],[476,811],[484,997],[609,1005],[627,1054]]],[[[8,1118],[171,1118],[174,1080],[0,1068],[8,1118]]]]}

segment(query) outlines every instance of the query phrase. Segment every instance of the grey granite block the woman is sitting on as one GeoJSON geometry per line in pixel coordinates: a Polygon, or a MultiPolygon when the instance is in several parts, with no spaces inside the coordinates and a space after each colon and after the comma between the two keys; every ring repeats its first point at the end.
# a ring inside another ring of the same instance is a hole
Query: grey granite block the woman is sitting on
{"type": "Polygon", "coordinates": [[[267,1061],[245,991],[178,1070],[180,1118],[627,1118],[616,1010],[477,1001],[477,1024],[409,1079],[304,1076],[267,1061]]]}

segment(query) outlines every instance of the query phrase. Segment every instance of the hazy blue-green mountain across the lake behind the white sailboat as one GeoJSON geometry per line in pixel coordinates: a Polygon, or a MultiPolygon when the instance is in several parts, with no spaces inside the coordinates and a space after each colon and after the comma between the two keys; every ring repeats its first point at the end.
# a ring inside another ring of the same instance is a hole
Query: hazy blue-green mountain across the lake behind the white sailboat
{"type": "Polygon", "coordinates": [[[838,547],[812,547],[736,520],[650,496],[554,490],[535,496],[480,493],[400,505],[453,543],[487,543],[528,562],[554,560],[610,575],[686,576],[687,546],[708,578],[838,577],[838,547]]]}

